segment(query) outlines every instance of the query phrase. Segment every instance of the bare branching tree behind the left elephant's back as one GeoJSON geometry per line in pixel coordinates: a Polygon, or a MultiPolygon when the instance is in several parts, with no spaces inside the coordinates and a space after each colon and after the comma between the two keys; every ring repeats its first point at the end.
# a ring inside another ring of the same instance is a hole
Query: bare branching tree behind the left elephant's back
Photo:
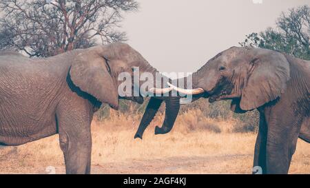
{"type": "Polygon", "coordinates": [[[1,0],[0,49],[46,57],[125,41],[116,29],[137,8],[135,0],[1,0]]]}

